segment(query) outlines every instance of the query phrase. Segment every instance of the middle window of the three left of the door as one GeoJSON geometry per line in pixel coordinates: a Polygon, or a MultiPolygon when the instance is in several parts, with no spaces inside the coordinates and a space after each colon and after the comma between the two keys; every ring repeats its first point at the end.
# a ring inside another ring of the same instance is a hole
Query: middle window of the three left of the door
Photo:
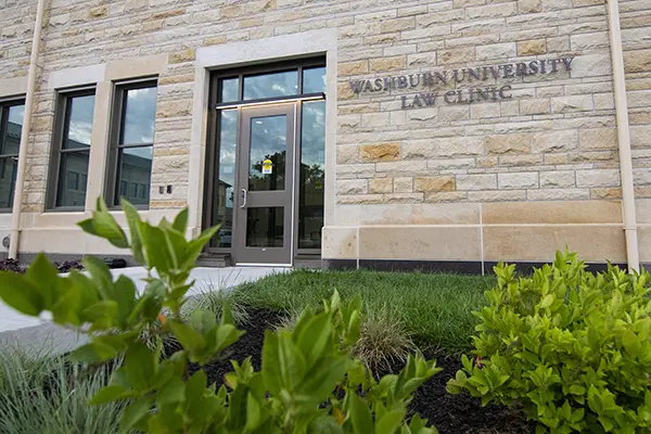
{"type": "Polygon", "coordinates": [[[50,208],[84,209],[95,90],[60,93],[54,118],[50,208]]]}

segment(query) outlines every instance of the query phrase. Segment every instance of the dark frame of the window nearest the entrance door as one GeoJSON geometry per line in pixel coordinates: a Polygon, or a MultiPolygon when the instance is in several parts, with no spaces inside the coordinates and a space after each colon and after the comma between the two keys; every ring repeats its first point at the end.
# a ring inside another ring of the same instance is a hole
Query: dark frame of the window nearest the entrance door
{"type": "MultiPolygon", "coordinates": [[[[104,188],[104,197],[106,203],[108,204],[110,209],[120,209],[120,162],[119,155],[120,150],[124,149],[136,149],[136,148],[151,148],[152,150],[152,162],[154,155],[154,141],[151,143],[120,143],[123,129],[125,126],[125,120],[127,116],[126,101],[127,94],[129,90],[136,89],[148,89],[155,88],[156,89],[156,105],[157,105],[157,89],[158,89],[158,77],[150,76],[142,77],[138,79],[132,79],[128,81],[116,81],[113,84],[114,86],[114,97],[113,104],[111,110],[111,132],[110,132],[110,145],[108,145],[108,158],[106,164],[106,182],[104,188]]],[[[154,116],[154,122],[155,122],[154,116]]],[[[153,139],[153,138],[152,138],[153,139]]],[[[150,173],[150,191],[152,184],[152,174],[150,173]]],[[[127,187],[128,193],[128,187],[127,187]]],[[[151,202],[151,196],[150,196],[151,202]]],[[[150,208],[148,204],[133,204],[136,209],[148,210],[150,208]]]]}

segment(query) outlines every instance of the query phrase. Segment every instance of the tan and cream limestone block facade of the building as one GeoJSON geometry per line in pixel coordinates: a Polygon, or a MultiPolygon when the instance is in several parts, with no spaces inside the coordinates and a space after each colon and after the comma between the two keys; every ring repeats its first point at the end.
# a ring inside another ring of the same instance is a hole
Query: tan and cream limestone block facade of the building
{"type": "MultiPolygon", "coordinates": [[[[651,263],[651,0],[620,0],[618,9],[638,255],[651,263]]],[[[25,98],[36,10],[37,0],[0,0],[0,101],[25,98]]],[[[290,219],[276,222],[284,231],[265,232],[289,233],[290,256],[250,259],[238,248],[250,220],[237,217],[246,179],[237,163],[234,186],[224,184],[235,213],[222,233],[230,248],[206,257],[478,272],[497,260],[547,261],[567,245],[588,261],[626,263],[609,30],[603,0],[46,0],[14,241],[25,255],[124,254],[74,224],[112,182],[116,86],[143,78],[157,80],[143,215],[189,206],[199,233],[215,222],[207,195],[225,196],[209,187],[218,183],[210,155],[221,155],[212,122],[221,100],[212,95],[226,86],[215,75],[243,80],[250,67],[318,60],[320,250],[302,253],[296,220],[305,217],[293,202],[283,208],[290,219]],[[48,196],[58,101],[80,87],[95,95],[86,202],[56,209],[48,196]]],[[[276,105],[306,104],[303,97],[276,105]]],[[[303,178],[293,175],[298,191],[303,178]]],[[[12,214],[0,215],[0,237],[11,226],[12,214]]]]}

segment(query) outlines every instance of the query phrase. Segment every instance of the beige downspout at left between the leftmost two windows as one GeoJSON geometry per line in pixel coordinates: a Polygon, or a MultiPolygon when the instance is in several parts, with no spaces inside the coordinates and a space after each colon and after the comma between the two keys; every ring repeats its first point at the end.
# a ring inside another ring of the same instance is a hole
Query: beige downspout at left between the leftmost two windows
{"type": "Polygon", "coordinates": [[[43,21],[46,0],[38,0],[36,22],[34,23],[34,38],[31,39],[31,55],[29,58],[29,74],[27,75],[27,94],[25,95],[25,115],[21,130],[21,144],[18,148],[18,171],[11,218],[11,237],[9,241],[9,257],[16,258],[18,254],[18,237],[21,234],[21,213],[23,210],[23,187],[25,183],[25,167],[27,165],[27,146],[29,131],[31,130],[31,112],[34,107],[34,93],[36,91],[36,64],[40,50],[40,34],[43,21]]]}

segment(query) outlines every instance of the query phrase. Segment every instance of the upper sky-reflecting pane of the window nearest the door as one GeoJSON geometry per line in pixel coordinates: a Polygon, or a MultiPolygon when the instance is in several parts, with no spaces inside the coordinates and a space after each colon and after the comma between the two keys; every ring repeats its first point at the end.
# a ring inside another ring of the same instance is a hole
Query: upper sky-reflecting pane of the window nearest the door
{"type": "Polygon", "coordinates": [[[154,142],[156,119],[156,87],[130,89],[125,92],[125,115],[119,144],[154,142]]]}

